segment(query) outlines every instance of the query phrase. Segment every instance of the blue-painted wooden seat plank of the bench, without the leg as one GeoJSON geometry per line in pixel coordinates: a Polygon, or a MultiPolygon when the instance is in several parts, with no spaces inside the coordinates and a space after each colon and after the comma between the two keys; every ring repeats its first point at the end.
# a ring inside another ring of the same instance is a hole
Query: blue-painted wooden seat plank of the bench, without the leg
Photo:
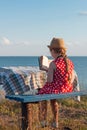
{"type": "Polygon", "coordinates": [[[39,102],[43,100],[51,100],[51,99],[63,99],[75,96],[87,95],[87,91],[79,91],[72,93],[64,93],[64,94],[43,94],[43,95],[6,95],[7,99],[15,100],[18,102],[39,102]]]}

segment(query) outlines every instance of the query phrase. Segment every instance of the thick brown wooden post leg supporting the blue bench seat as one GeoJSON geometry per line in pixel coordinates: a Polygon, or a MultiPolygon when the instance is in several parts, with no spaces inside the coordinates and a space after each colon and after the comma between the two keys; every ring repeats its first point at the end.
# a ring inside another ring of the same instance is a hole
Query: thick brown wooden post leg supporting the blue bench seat
{"type": "Polygon", "coordinates": [[[32,130],[32,104],[22,103],[22,130],[32,130]]]}

